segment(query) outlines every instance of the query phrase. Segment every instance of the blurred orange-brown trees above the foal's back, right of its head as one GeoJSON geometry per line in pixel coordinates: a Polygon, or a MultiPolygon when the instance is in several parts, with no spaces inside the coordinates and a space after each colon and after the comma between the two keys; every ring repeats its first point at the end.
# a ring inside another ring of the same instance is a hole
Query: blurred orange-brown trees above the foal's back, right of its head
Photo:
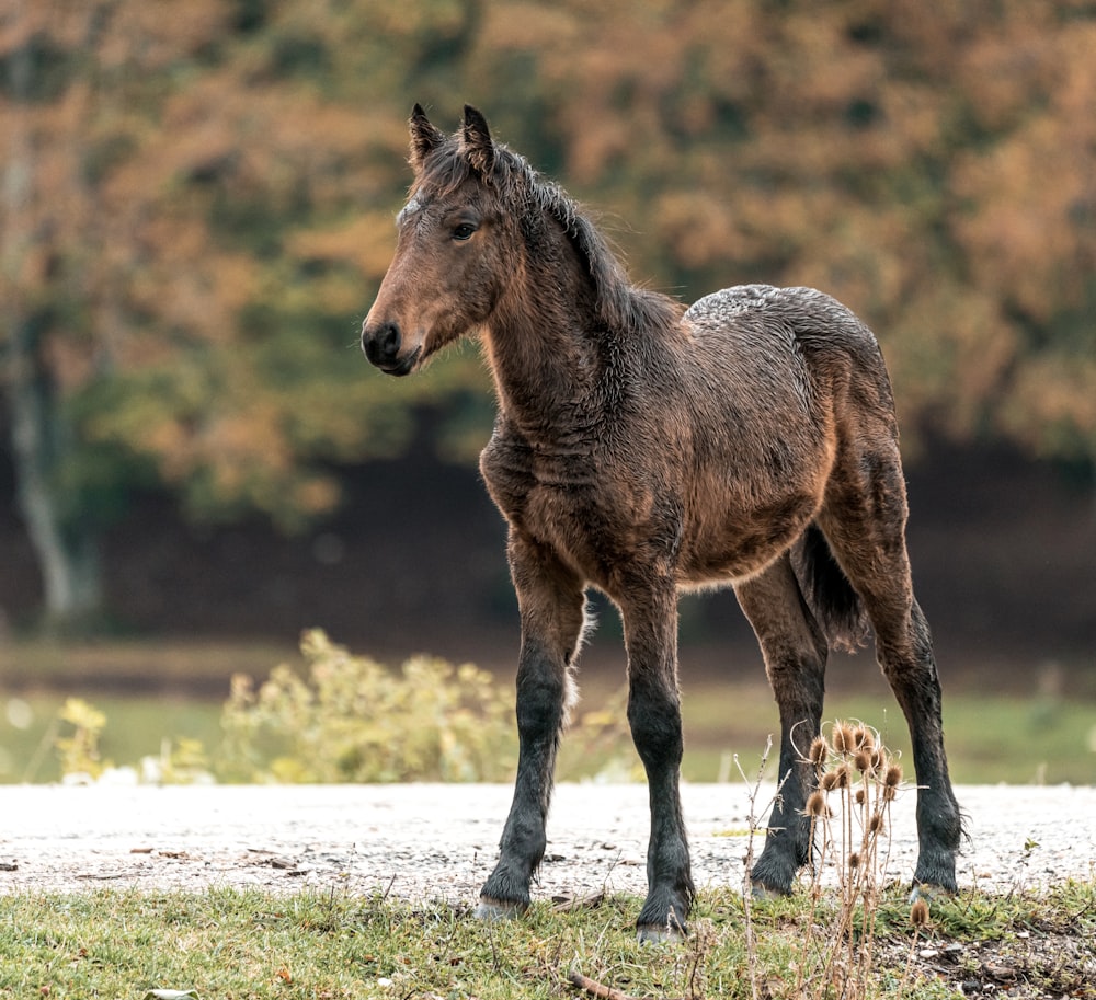
{"type": "Polygon", "coordinates": [[[883,341],[910,450],[1092,469],[1094,43],[1074,0],[570,0],[492,5],[473,58],[500,91],[523,67],[550,113],[515,145],[562,148],[638,273],[817,285],[883,341]]]}

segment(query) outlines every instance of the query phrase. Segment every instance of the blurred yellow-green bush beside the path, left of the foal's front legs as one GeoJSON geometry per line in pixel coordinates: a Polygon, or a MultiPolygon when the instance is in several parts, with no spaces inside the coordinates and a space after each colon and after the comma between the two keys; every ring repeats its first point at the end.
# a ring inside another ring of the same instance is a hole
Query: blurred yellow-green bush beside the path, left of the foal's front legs
{"type": "Polygon", "coordinates": [[[513,708],[471,664],[419,656],[393,671],[306,632],[304,676],[238,675],[218,777],[249,782],[501,781],[516,760],[513,708]]]}

